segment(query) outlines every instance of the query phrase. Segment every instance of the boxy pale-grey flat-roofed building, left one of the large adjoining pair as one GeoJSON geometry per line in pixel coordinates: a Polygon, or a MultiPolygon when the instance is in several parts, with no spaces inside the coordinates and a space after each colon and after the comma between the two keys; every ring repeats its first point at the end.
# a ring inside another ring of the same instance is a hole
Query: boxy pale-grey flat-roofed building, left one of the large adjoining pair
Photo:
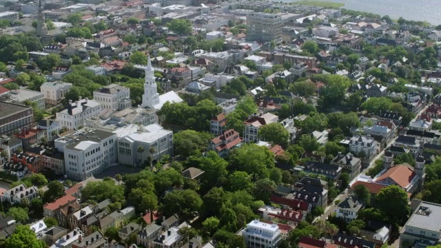
{"type": "Polygon", "coordinates": [[[55,148],[64,153],[66,175],[76,180],[102,172],[118,160],[116,134],[88,127],[58,138],[55,148]]]}

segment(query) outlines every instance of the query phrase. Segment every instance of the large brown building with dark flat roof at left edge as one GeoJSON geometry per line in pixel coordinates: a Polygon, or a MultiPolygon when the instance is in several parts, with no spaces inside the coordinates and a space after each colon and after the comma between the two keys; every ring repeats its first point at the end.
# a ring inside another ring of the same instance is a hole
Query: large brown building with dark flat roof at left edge
{"type": "Polygon", "coordinates": [[[15,130],[34,123],[32,107],[0,101],[0,135],[13,134],[15,130]]]}

